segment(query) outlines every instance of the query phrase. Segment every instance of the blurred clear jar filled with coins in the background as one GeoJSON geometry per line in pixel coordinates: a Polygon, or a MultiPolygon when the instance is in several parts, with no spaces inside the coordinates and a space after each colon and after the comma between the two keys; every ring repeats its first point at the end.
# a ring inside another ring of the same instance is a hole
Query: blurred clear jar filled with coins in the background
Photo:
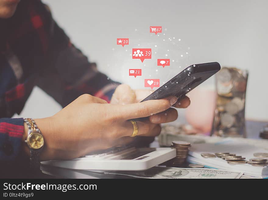
{"type": "Polygon", "coordinates": [[[216,74],[217,103],[212,134],[245,137],[245,94],[248,72],[223,67],[216,74]]]}

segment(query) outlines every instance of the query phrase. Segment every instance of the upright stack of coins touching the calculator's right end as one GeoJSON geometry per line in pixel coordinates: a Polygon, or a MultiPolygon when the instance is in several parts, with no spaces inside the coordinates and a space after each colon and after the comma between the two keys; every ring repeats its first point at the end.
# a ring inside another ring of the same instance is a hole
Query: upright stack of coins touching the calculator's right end
{"type": "Polygon", "coordinates": [[[183,167],[187,155],[188,148],[191,146],[189,142],[185,141],[173,141],[171,147],[176,149],[176,157],[167,161],[168,167],[183,167]]]}

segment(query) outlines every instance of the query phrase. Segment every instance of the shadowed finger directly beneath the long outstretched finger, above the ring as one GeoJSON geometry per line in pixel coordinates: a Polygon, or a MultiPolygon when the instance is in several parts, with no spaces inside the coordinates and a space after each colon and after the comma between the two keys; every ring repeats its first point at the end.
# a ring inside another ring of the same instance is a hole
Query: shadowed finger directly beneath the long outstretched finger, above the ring
{"type": "Polygon", "coordinates": [[[175,121],[177,118],[178,118],[178,111],[175,108],[169,108],[164,112],[150,116],[149,120],[150,122],[155,124],[162,124],[175,121]]]}

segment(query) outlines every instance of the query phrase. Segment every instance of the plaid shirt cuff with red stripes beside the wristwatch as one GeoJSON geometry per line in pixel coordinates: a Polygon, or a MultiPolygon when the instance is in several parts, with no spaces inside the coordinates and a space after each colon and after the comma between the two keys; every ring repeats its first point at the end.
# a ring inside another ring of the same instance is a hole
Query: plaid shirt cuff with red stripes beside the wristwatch
{"type": "Polygon", "coordinates": [[[0,160],[14,160],[24,133],[23,118],[0,118],[0,160]]]}

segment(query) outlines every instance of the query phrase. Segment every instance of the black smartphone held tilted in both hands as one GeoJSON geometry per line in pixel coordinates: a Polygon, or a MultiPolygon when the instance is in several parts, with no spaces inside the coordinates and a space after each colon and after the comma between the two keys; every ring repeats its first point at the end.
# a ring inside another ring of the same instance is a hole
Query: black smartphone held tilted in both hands
{"type": "Polygon", "coordinates": [[[219,70],[220,64],[218,62],[191,65],[182,70],[182,72],[170,79],[141,102],[163,99],[168,96],[177,96],[178,100],[180,100],[185,94],[193,90],[212,75],[216,74],[219,70]]]}

